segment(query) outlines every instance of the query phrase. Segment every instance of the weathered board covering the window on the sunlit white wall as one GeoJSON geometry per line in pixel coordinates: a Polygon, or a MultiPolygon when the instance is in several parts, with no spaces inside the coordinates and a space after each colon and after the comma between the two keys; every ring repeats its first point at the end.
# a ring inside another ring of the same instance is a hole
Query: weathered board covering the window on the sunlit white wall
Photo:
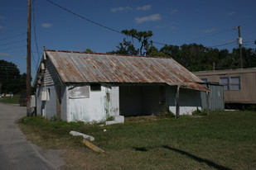
{"type": "Polygon", "coordinates": [[[89,86],[71,87],[69,89],[70,98],[89,98],[89,86]]]}

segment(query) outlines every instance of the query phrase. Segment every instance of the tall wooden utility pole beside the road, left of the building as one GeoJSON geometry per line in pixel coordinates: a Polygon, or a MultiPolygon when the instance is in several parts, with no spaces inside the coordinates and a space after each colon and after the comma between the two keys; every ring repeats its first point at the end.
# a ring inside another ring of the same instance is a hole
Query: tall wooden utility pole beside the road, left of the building
{"type": "Polygon", "coordinates": [[[31,0],[27,0],[27,116],[31,116],[31,0]]]}

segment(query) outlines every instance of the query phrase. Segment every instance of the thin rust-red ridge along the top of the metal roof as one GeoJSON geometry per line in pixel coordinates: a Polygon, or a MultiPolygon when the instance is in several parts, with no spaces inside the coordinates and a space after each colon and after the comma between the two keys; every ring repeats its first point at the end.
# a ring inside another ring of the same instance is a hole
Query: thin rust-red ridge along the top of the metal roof
{"type": "Polygon", "coordinates": [[[144,55],[89,53],[89,52],[69,51],[69,50],[45,50],[45,51],[51,51],[51,52],[63,52],[63,53],[78,53],[78,54],[99,54],[99,55],[114,55],[114,56],[126,56],[126,57],[142,57],[142,58],[171,59],[171,57],[169,58],[169,57],[144,56],[144,55]]]}

